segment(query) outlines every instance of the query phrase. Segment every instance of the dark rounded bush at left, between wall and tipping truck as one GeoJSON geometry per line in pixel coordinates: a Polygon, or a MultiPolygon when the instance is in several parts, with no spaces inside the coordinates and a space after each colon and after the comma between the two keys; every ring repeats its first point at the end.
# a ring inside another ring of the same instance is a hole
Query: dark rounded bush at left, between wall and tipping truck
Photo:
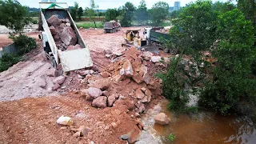
{"type": "Polygon", "coordinates": [[[26,54],[36,47],[34,38],[20,34],[18,36],[11,35],[10,38],[14,41],[15,46],[18,48],[18,54],[26,54]]]}

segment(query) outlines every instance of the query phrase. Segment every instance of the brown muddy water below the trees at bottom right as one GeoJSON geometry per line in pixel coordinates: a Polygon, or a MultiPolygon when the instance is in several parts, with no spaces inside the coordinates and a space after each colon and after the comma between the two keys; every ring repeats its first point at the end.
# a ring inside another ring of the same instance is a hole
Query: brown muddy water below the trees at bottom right
{"type": "MultiPolygon", "coordinates": [[[[252,143],[256,144],[256,129],[250,118],[238,116],[217,115],[200,111],[198,114],[172,114],[166,109],[168,102],[162,102],[161,109],[156,108],[147,117],[148,129],[154,138],[160,139],[158,143],[252,143]],[[170,118],[168,126],[151,125],[152,115],[164,112],[170,118]],[[174,142],[168,140],[169,134],[174,134],[174,142]]],[[[146,122],[146,121],[144,121],[146,122]]]]}

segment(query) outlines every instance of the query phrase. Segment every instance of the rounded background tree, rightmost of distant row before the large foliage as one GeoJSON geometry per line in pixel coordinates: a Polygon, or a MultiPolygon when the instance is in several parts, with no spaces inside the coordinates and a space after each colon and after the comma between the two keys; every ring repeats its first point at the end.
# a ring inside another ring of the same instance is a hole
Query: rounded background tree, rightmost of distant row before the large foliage
{"type": "Polygon", "coordinates": [[[169,5],[166,2],[157,2],[149,11],[154,25],[159,26],[169,14],[169,5]]]}

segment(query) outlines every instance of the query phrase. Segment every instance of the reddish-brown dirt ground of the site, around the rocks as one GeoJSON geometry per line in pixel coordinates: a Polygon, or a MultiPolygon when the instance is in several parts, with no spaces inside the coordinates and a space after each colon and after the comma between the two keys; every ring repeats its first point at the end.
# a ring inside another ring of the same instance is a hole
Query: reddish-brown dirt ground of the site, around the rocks
{"type": "MultiPolygon", "coordinates": [[[[104,34],[99,30],[80,30],[82,38],[90,48],[94,69],[102,72],[111,64],[104,50],[119,53],[125,50],[121,46],[127,28],[113,34],[104,34]]],[[[141,27],[141,29],[143,29],[141,27]]],[[[53,91],[54,77],[47,73],[53,69],[44,57],[42,42],[38,32],[28,33],[37,38],[38,47],[24,56],[22,62],[0,73],[0,144],[2,143],[126,143],[120,139],[122,134],[138,138],[140,129],[138,119],[131,118],[134,113],[127,110],[130,99],[121,105],[97,109],[78,92],[86,88],[78,80],[78,74],[70,73],[61,89],[53,91]],[[42,88],[38,83],[46,82],[42,88]],[[73,126],[59,126],[56,121],[62,115],[72,118],[73,126]],[[113,124],[114,123],[114,124],[113,124]],[[74,137],[74,129],[87,126],[90,132],[84,137],[74,137]]],[[[0,34],[0,46],[11,43],[8,34],[0,34]]],[[[166,54],[160,53],[164,57],[166,54]]],[[[149,70],[155,67],[148,65],[149,70]]],[[[155,71],[157,72],[157,71],[155,71]]],[[[110,90],[128,95],[135,82],[124,80],[111,83],[110,90]],[[128,85],[129,83],[129,85],[128,85]]],[[[154,98],[146,108],[154,106],[161,98],[154,98]]]]}

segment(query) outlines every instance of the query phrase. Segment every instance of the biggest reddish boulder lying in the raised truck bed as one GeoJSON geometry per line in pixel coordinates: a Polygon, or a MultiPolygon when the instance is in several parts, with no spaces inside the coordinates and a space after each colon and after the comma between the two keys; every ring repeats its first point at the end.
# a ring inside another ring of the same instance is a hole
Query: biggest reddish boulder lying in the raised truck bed
{"type": "Polygon", "coordinates": [[[74,30],[71,27],[64,27],[60,37],[62,42],[64,42],[66,46],[75,45],[78,41],[77,36],[75,35],[74,30]]]}

